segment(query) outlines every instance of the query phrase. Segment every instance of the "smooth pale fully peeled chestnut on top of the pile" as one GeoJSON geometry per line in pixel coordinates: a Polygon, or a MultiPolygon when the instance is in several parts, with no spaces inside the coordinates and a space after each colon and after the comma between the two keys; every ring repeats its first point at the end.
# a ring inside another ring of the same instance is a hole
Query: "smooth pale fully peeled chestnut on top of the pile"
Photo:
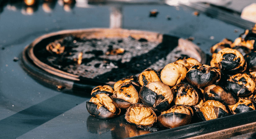
{"type": "Polygon", "coordinates": [[[175,86],[186,78],[186,73],[187,69],[181,63],[169,63],[161,71],[161,81],[168,86],[175,86]]]}

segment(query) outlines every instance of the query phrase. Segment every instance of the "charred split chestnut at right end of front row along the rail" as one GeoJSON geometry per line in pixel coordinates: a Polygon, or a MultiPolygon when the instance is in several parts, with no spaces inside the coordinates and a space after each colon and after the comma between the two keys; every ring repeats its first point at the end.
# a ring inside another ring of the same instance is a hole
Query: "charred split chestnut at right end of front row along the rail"
{"type": "Polygon", "coordinates": [[[255,105],[251,100],[241,98],[236,104],[229,105],[228,107],[233,114],[255,110],[255,105]]]}

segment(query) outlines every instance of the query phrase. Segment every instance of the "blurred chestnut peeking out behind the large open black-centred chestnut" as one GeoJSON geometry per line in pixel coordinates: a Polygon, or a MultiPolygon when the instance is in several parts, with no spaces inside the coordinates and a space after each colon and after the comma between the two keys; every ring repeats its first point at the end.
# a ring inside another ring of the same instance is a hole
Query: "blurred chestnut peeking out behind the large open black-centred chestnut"
{"type": "Polygon", "coordinates": [[[224,49],[224,48],[230,48],[230,45],[232,44],[232,40],[229,40],[227,38],[223,39],[221,42],[213,45],[210,49],[210,52],[212,53],[212,57],[215,57],[216,54],[224,49]]]}

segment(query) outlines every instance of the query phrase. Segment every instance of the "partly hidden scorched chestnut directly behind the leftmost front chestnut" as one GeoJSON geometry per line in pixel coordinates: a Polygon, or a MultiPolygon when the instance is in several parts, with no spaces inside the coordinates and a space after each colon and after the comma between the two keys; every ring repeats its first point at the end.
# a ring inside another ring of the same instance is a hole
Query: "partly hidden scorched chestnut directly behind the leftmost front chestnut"
{"type": "Polygon", "coordinates": [[[96,86],[92,89],[91,96],[95,96],[97,94],[105,93],[107,95],[113,95],[113,88],[109,85],[96,86]]]}

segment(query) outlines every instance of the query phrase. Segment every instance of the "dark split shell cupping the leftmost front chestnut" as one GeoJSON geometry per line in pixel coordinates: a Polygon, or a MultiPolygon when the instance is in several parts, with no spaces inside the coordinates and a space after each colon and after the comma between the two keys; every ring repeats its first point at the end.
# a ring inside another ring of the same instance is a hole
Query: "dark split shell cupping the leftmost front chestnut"
{"type": "Polygon", "coordinates": [[[93,102],[86,102],[86,108],[87,111],[94,117],[100,118],[100,119],[110,119],[115,117],[116,115],[120,114],[120,109],[116,109],[116,112],[110,112],[106,107],[101,106],[99,109],[97,109],[97,105],[93,102]]]}

